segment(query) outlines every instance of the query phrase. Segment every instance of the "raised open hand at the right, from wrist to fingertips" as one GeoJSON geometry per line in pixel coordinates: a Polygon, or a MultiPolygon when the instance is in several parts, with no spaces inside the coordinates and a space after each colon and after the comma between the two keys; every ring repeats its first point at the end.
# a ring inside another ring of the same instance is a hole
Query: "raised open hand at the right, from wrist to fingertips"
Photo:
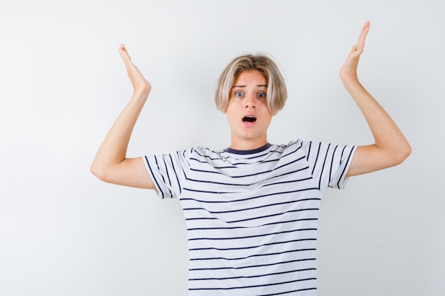
{"type": "Polygon", "coordinates": [[[353,48],[350,50],[348,57],[346,57],[346,60],[340,69],[340,78],[343,82],[349,82],[351,80],[358,81],[358,60],[360,59],[360,55],[363,53],[363,49],[365,48],[366,35],[368,35],[369,29],[370,22],[367,21],[365,26],[363,26],[362,33],[360,33],[357,43],[353,45],[353,48]]]}

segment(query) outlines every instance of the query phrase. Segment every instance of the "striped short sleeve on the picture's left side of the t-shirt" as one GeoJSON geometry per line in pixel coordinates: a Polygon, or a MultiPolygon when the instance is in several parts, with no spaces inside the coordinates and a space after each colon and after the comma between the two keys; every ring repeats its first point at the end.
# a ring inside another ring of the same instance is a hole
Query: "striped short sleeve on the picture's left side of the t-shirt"
{"type": "Polygon", "coordinates": [[[159,197],[172,198],[181,195],[190,168],[188,155],[189,150],[182,150],[171,154],[144,156],[146,169],[159,197]]]}

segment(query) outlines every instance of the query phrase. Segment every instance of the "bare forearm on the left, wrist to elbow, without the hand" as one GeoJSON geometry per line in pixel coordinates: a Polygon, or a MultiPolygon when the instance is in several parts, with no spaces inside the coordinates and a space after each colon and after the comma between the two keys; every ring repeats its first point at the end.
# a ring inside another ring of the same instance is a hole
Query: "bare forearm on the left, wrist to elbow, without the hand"
{"type": "Polygon", "coordinates": [[[105,136],[91,165],[92,173],[100,179],[106,180],[107,172],[122,163],[127,157],[127,148],[132,131],[149,92],[148,88],[134,92],[132,99],[119,114],[107,136],[105,136]]]}

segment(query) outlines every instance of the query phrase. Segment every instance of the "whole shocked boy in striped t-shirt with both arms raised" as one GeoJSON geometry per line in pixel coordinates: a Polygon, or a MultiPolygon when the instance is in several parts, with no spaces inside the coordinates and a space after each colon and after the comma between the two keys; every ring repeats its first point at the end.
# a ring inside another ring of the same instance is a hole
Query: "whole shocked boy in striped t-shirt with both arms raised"
{"type": "Polygon", "coordinates": [[[91,170],[106,182],[154,189],[178,197],[186,217],[189,295],[315,295],[316,229],[326,187],[348,177],[398,165],[411,153],[402,132],[360,84],[358,60],[365,23],[340,70],[343,85],[375,138],[368,146],[267,141],[272,116],[286,101],[286,86],[265,55],[243,55],[227,65],[215,102],[227,115],[225,150],[191,148],[127,158],[136,119],[151,85],[124,60],[134,94],[104,139],[91,170]]]}

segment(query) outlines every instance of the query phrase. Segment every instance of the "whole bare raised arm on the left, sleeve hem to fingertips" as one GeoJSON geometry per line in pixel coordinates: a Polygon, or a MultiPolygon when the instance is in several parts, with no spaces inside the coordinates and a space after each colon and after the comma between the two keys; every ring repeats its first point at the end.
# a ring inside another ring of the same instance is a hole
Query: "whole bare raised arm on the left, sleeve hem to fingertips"
{"type": "Polygon", "coordinates": [[[127,158],[128,143],[136,120],[149,97],[151,85],[133,64],[124,45],[119,46],[119,54],[127,67],[134,93],[104,138],[92,162],[91,172],[104,182],[154,189],[142,158],[127,158]]]}

